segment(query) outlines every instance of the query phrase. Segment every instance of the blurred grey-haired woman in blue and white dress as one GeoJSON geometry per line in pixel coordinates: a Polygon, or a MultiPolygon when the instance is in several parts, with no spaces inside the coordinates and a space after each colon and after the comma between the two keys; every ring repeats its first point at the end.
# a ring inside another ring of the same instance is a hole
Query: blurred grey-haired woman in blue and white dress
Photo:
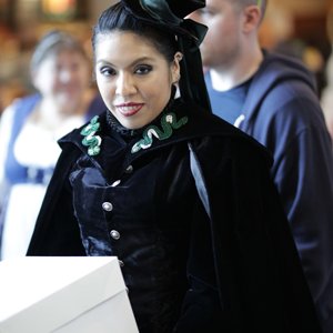
{"type": "Polygon", "coordinates": [[[31,57],[37,93],[16,100],[0,122],[1,259],[24,255],[60,153],[57,140],[103,111],[90,88],[91,62],[81,42],[53,30],[31,57]]]}

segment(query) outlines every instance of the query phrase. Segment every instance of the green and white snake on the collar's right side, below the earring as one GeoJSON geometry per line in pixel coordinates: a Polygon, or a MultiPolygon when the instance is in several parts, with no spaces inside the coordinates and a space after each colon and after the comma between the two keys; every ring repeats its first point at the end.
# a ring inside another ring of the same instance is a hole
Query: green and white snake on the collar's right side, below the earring
{"type": "Polygon", "coordinates": [[[184,125],[188,120],[188,117],[183,117],[179,121],[176,121],[176,117],[173,112],[164,114],[161,119],[162,131],[155,125],[148,127],[142,134],[143,139],[139,140],[132,147],[131,152],[135,153],[141,149],[150,148],[153,143],[153,137],[159,140],[169,139],[172,135],[173,130],[178,130],[179,128],[184,125]]]}

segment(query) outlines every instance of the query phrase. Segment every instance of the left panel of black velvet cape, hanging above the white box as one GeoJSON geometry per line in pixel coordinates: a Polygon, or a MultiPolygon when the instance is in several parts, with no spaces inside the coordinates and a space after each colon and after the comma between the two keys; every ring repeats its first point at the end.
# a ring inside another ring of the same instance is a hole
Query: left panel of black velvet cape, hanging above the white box
{"type": "Polygon", "coordinates": [[[69,171],[78,153],[63,150],[48,186],[27,255],[85,255],[72,208],[69,171]]]}

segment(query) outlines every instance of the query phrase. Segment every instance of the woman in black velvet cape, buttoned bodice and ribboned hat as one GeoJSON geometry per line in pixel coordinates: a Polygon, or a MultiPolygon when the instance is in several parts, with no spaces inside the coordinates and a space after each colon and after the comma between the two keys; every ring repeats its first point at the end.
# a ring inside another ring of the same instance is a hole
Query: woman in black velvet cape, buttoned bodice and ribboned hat
{"type": "Polygon", "coordinates": [[[205,27],[183,19],[203,6],[102,13],[108,110],[59,141],[28,255],[117,255],[141,333],[320,332],[271,158],[210,112],[205,27]]]}

